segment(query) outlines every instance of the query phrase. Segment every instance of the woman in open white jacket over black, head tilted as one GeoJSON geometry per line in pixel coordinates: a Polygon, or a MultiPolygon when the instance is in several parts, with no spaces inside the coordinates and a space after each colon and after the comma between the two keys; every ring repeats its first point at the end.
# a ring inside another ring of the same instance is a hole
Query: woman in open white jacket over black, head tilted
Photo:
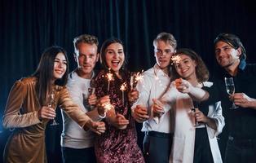
{"type": "MultiPolygon", "coordinates": [[[[190,49],[180,49],[175,55],[179,55],[179,62],[173,64],[173,77],[182,77],[192,86],[212,86],[207,81],[209,72],[201,57],[190,49]]],[[[179,92],[183,88],[179,86],[180,79],[175,80],[175,86],[179,92]]],[[[195,104],[195,103],[194,103],[195,104]]],[[[216,136],[220,134],[225,125],[220,102],[207,104],[207,101],[199,104],[199,109],[193,112],[192,98],[188,94],[178,94],[174,104],[174,142],[170,154],[170,162],[222,162],[218,149],[216,136]],[[196,121],[201,124],[195,127],[196,121]]]]}

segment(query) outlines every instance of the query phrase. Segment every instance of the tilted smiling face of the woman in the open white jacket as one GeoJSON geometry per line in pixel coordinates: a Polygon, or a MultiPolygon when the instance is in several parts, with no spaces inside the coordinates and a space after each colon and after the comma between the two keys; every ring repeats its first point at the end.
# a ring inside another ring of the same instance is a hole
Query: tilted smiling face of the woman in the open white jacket
{"type": "Polygon", "coordinates": [[[180,54],[181,60],[179,64],[175,64],[176,72],[180,77],[186,80],[196,79],[196,61],[191,59],[188,55],[180,54]]]}

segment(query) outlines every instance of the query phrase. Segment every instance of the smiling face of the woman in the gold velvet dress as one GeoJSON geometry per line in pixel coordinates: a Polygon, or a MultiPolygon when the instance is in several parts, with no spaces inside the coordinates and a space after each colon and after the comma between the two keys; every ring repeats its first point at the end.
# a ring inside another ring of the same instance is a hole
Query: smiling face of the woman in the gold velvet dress
{"type": "Polygon", "coordinates": [[[67,59],[63,53],[58,53],[55,56],[54,67],[53,67],[53,77],[54,81],[63,77],[67,70],[67,59]]]}

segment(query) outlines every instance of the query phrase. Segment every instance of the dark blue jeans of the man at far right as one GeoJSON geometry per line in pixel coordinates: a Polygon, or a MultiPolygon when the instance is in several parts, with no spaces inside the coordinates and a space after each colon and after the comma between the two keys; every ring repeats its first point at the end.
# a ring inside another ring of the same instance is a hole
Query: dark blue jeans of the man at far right
{"type": "Polygon", "coordinates": [[[256,139],[235,139],[228,137],[226,148],[226,163],[255,163],[256,139]]]}

